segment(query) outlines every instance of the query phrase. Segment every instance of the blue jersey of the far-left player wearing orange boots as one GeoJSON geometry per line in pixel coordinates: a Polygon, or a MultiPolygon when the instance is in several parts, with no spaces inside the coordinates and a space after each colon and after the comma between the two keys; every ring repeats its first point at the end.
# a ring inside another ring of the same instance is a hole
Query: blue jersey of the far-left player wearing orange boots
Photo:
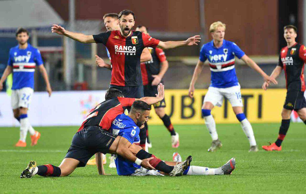
{"type": "Polygon", "coordinates": [[[35,66],[43,64],[43,59],[39,50],[30,44],[26,49],[20,49],[17,45],[9,50],[7,64],[13,67],[12,89],[34,88],[35,66]]]}

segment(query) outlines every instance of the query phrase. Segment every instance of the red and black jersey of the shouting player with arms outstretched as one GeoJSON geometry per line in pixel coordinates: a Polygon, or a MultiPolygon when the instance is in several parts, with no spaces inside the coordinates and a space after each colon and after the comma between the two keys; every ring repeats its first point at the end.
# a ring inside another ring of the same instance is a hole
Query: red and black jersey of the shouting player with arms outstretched
{"type": "Polygon", "coordinates": [[[139,31],[132,31],[129,37],[120,30],[93,35],[96,43],[103,43],[110,52],[112,77],[110,85],[141,86],[140,55],[146,47],[155,48],[159,40],[139,31]]]}

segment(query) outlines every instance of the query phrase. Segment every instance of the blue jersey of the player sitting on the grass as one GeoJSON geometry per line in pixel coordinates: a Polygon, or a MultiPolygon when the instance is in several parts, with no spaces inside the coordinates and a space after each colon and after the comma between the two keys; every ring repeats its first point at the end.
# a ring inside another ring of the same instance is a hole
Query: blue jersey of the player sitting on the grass
{"type": "MultiPolygon", "coordinates": [[[[130,143],[140,143],[140,129],[131,117],[125,114],[118,115],[114,119],[110,128],[114,135],[122,136],[130,143]]],[[[118,175],[131,175],[135,173],[136,168],[140,167],[139,165],[126,160],[120,155],[115,156],[115,164],[118,175]]]]}

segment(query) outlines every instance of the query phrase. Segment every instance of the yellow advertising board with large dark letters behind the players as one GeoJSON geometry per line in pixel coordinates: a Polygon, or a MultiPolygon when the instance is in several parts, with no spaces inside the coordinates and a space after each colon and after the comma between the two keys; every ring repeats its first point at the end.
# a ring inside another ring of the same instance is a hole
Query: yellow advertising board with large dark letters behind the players
{"type": "MultiPolygon", "coordinates": [[[[173,124],[203,124],[202,104],[207,89],[198,89],[194,98],[188,97],[187,89],[165,91],[166,114],[173,124]]],[[[251,123],[280,122],[286,89],[241,89],[243,109],[251,123]]],[[[215,107],[211,114],[216,123],[239,123],[230,102],[223,101],[222,107],[215,107]]],[[[152,106],[149,124],[162,124],[152,106]]]]}

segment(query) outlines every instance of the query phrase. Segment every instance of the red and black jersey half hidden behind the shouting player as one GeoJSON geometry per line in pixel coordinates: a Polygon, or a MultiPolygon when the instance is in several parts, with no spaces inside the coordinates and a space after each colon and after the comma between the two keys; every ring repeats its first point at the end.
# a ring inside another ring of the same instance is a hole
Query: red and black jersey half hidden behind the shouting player
{"type": "Polygon", "coordinates": [[[165,52],[161,48],[148,47],[148,49],[152,55],[151,61],[140,63],[142,82],[144,83],[144,86],[148,84],[151,85],[154,79],[152,75],[159,74],[160,63],[167,60],[165,52]]]}

